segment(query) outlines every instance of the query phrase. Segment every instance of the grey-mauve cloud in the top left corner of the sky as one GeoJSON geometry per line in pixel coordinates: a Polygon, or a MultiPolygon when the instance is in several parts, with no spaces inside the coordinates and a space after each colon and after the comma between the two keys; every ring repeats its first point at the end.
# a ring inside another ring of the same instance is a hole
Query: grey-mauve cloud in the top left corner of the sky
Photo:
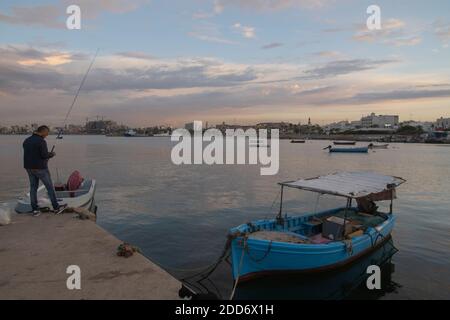
{"type": "MultiPolygon", "coordinates": [[[[134,11],[149,0],[78,0],[83,18],[94,19],[104,12],[114,14],[134,11]]],[[[66,28],[66,8],[72,0],[60,0],[54,5],[13,6],[9,14],[0,13],[0,23],[39,26],[52,29],[66,28]]]]}

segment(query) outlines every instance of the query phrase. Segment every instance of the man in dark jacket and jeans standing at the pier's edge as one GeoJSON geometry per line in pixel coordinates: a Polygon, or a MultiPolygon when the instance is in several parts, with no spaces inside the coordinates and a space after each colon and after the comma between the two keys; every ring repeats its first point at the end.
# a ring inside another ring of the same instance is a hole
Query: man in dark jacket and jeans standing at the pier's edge
{"type": "Polygon", "coordinates": [[[30,200],[33,216],[40,215],[37,199],[39,181],[42,181],[47,189],[54,212],[59,214],[65,208],[65,205],[60,206],[58,203],[50,171],[48,170],[48,160],[56,155],[54,152],[48,152],[45,138],[47,138],[49,131],[50,129],[47,126],[40,126],[33,135],[23,142],[23,162],[30,179],[30,200]]]}

